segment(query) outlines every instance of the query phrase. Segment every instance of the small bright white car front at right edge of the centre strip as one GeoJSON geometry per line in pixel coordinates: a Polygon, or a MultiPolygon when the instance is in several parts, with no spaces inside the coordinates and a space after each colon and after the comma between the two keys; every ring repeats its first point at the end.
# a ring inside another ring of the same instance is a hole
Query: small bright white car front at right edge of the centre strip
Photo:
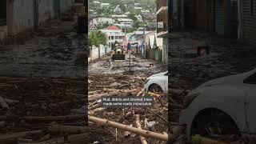
{"type": "Polygon", "coordinates": [[[144,85],[146,92],[166,92],[168,91],[168,71],[153,74],[146,79],[146,84],[144,85]]]}

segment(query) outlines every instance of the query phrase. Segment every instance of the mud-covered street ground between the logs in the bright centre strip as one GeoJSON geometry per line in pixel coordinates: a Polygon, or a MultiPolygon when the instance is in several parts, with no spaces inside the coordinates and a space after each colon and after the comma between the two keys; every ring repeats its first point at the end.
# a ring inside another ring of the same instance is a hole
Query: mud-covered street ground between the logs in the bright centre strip
{"type": "MultiPolygon", "coordinates": [[[[104,94],[104,90],[120,90],[121,93],[114,94],[116,96],[135,96],[140,90],[143,89],[145,84],[145,78],[152,74],[157,74],[167,70],[167,67],[154,62],[153,60],[143,59],[131,55],[131,69],[129,67],[129,58],[126,55],[126,60],[112,61],[110,56],[106,56],[101,60],[96,62],[90,62],[88,67],[89,74],[89,93],[100,91],[97,94],[104,94]],[[150,66],[153,64],[154,66],[150,66]],[[128,71],[133,71],[130,74],[128,71]],[[104,86],[114,86],[113,88],[106,88],[104,86]],[[122,90],[131,90],[132,92],[126,93],[122,90]]],[[[114,96],[113,95],[113,96],[114,96]]],[[[90,100],[89,94],[89,100],[90,100]]],[[[89,101],[89,112],[94,110],[100,110],[94,112],[94,117],[104,118],[110,121],[119,122],[125,125],[132,125],[136,127],[134,114],[140,115],[140,120],[142,124],[142,129],[145,129],[145,118],[149,122],[158,122],[155,125],[155,132],[162,133],[168,131],[168,106],[167,106],[167,94],[162,94],[160,98],[161,103],[158,99],[155,99],[155,104],[153,107],[146,110],[144,108],[106,108],[104,110],[102,107],[97,106],[94,108],[93,103],[97,100],[89,101]],[[158,115],[160,115],[165,120],[162,120],[158,115]]],[[[146,138],[148,143],[162,143],[161,141],[154,138],[146,138]]],[[[89,143],[102,142],[102,143],[140,143],[138,134],[127,134],[124,130],[118,130],[116,133],[115,128],[99,126],[92,122],[89,123],[89,143]]]]}

